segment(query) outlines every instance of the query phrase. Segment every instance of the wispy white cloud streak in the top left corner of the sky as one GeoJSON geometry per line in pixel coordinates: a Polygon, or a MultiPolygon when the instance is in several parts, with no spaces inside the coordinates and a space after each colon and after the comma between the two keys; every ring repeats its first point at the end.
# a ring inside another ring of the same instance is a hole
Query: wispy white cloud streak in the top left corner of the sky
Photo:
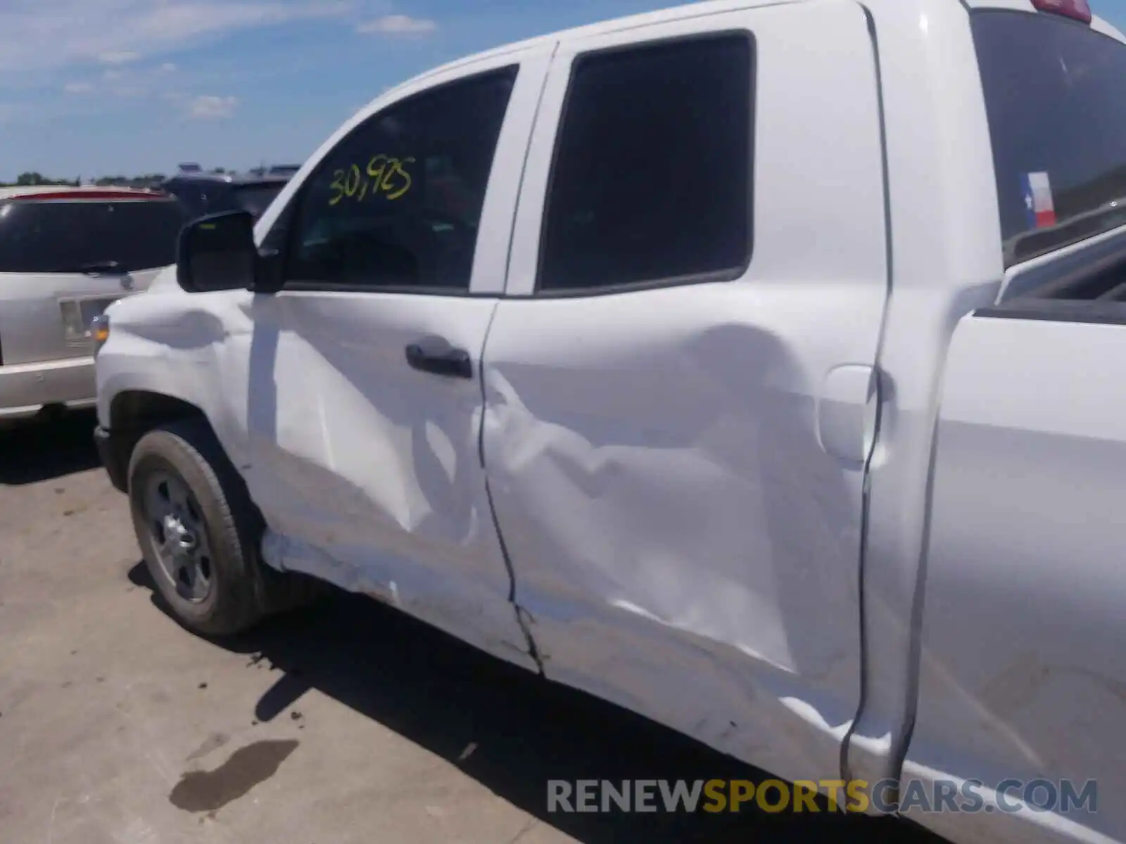
{"type": "Polygon", "coordinates": [[[0,73],[125,64],[230,33],[348,14],[358,0],[0,0],[0,73]]]}

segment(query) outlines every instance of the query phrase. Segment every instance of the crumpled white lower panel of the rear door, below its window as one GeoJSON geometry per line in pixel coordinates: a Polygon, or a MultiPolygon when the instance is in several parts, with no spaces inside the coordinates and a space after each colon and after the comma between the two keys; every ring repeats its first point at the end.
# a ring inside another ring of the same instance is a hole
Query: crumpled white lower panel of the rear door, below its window
{"type": "Polygon", "coordinates": [[[717,317],[761,294],[694,293],[660,349],[589,326],[566,352],[544,338],[533,359],[490,356],[485,456],[516,602],[551,643],[549,679],[778,773],[835,772],[856,625],[824,608],[858,600],[859,476],[816,445],[793,338],[717,317]],[[595,384],[571,377],[596,368],[595,384]]]}

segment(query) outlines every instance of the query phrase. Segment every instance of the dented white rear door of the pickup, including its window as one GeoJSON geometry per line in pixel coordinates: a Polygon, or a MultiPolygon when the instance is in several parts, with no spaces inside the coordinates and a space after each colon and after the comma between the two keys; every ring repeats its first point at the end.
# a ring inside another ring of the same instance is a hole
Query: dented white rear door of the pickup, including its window
{"type": "Polygon", "coordinates": [[[839,770],[884,231],[859,6],[562,44],[483,438],[548,677],[790,779],[839,770]]]}

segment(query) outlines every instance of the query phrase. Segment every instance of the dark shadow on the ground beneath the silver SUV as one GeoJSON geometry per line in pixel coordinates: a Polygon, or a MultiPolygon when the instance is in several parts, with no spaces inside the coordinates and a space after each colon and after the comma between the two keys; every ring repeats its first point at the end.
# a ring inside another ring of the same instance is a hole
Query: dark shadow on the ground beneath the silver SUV
{"type": "Polygon", "coordinates": [[[74,411],[0,429],[0,485],[23,486],[96,468],[96,424],[93,411],[74,411]]]}

